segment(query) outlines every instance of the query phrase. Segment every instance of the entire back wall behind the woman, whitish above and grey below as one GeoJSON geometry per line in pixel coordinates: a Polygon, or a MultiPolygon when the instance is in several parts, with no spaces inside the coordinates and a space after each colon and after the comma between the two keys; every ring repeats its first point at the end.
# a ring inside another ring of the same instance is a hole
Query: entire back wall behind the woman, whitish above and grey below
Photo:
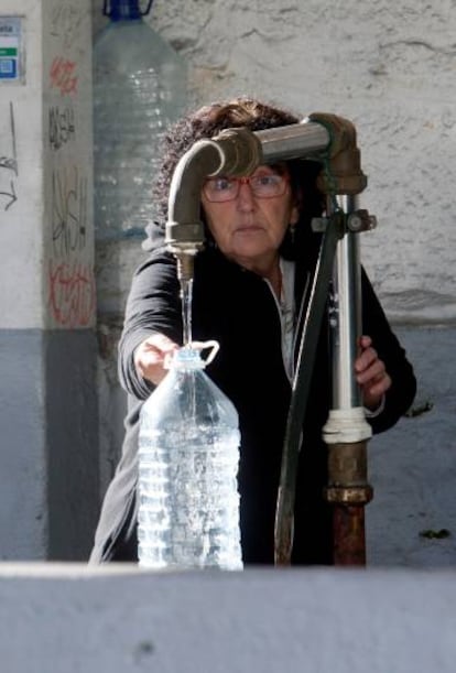
{"type": "MultiPolygon", "coordinates": [[[[101,4],[93,2],[95,35],[101,4]]],[[[248,94],[355,122],[369,178],[361,205],[379,221],[362,235],[362,260],[388,315],[405,326],[417,406],[434,405],[371,443],[371,562],[450,563],[453,538],[420,532],[456,534],[454,2],[155,0],[148,20],[185,55],[192,106],[248,94]]],[[[100,391],[118,404],[106,381],[100,391]]]]}

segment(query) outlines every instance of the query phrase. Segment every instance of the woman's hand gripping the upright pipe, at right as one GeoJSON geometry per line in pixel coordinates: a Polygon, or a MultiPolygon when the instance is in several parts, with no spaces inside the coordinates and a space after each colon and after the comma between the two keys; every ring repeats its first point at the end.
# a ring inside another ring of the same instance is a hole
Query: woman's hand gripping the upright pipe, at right
{"type": "Polygon", "coordinates": [[[361,336],[359,345],[361,352],[355,361],[356,380],[361,387],[363,405],[376,411],[391,387],[391,378],[384,368],[384,362],[372,348],[372,339],[369,336],[361,336]]]}

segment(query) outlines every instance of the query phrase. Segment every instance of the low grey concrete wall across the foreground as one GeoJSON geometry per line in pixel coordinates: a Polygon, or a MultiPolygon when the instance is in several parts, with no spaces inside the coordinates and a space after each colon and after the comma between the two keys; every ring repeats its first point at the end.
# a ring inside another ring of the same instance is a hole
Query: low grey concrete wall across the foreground
{"type": "Polygon", "coordinates": [[[453,673],[454,572],[0,566],[8,673],[453,673]]]}

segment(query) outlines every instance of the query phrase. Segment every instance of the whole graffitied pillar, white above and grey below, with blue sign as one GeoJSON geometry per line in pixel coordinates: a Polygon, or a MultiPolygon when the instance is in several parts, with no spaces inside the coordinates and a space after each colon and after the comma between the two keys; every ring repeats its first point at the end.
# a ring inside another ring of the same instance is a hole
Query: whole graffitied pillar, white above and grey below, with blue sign
{"type": "Polygon", "coordinates": [[[0,553],[82,560],[98,513],[90,3],[0,12],[0,553]]]}

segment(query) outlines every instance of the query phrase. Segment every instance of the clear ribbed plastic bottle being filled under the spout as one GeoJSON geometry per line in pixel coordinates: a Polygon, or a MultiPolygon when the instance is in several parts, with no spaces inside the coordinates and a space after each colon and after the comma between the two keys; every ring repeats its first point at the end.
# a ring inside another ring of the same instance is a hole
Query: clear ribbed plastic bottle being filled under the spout
{"type": "Polygon", "coordinates": [[[238,414],[205,365],[198,350],[180,349],[141,411],[138,538],[144,567],[242,568],[238,414]]]}

